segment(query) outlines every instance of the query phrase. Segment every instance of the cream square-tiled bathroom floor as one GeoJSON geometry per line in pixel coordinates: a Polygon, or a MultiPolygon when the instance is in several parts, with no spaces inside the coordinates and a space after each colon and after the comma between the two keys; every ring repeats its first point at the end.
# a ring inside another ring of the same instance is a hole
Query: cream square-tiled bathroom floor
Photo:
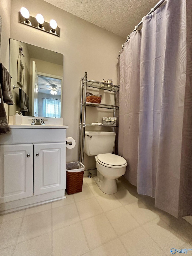
{"type": "Polygon", "coordinates": [[[155,208],[123,177],[118,188],[107,195],[84,178],[80,193],[0,216],[0,255],[163,256],[192,248],[192,225],[155,208]]]}

